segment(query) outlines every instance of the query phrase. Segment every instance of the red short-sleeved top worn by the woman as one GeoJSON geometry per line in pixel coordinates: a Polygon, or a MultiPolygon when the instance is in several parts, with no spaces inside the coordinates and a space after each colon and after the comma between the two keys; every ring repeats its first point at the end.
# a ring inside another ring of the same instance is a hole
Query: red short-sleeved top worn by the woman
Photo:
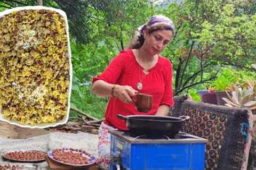
{"type": "Polygon", "coordinates": [[[116,117],[122,115],[154,115],[160,105],[173,106],[172,64],[162,56],[158,56],[156,65],[145,74],[138,64],[131,49],[121,51],[108,65],[102,74],[93,78],[93,82],[104,80],[111,84],[131,86],[137,89],[141,79],[143,88],[140,93],[153,95],[153,107],[148,113],[138,112],[134,103],[126,104],[119,99],[110,98],[105,112],[105,121],[119,130],[127,130],[124,120],[116,117]],[[139,76],[140,74],[140,76],[139,76]]]}

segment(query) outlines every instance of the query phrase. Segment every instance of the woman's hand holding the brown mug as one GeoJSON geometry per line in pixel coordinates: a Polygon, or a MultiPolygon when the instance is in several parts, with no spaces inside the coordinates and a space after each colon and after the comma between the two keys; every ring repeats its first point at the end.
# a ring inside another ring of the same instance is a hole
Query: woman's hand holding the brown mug
{"type": "Polygon", "coordinates": [[[132,97],[137,93],[138,91],[134,90],[131,86],[116,85],[113,95],[122,100],[124,103],[131,104],[133,103],[132,97]]]}

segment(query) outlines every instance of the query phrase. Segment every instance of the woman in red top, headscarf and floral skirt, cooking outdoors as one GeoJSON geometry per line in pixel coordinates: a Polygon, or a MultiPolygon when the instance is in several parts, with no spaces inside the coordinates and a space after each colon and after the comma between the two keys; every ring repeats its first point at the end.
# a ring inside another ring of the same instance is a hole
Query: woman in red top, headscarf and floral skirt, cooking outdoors
{"type": "Polygon", "coordinates": [[[167,115],[173,106],[172,64],[159,53],[174,36],[173,22],[162,15],[152,16],[138,28],[127,50],[120,52],[101,75],[93,78],[92,92],[109,96],[105,120],[99,130],[99,158],[103,169],[109,168],[110,135],[108,130],[127,130],[122,115],[167,115]],[[148,113],[138,112],[133,97],[138,93],[153,96],[153,107],[148,113]]]}

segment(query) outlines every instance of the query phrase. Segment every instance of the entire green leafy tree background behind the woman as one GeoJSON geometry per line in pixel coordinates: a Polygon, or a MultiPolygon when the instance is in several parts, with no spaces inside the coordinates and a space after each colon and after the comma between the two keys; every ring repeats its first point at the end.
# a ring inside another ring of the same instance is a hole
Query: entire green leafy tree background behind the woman
{"type": "MultiPolygon", "coordinates": [[[[0,0],[0,11],[25,5],[36,5],[36,1],[0,0]]],[[[173,63],[175,95],[189,92],[198,101],[197,90],[256,77],[251,67],[256,63],[255,0],[44,0],[43,5],[61,8],[68,15],[71,107],[94,117],[103,118],[108,99],[91,93],[92,77],[105,69],[129,44],[139,25],[154,14],[171,18],[177,30],[161,53],[173,63]]]]}

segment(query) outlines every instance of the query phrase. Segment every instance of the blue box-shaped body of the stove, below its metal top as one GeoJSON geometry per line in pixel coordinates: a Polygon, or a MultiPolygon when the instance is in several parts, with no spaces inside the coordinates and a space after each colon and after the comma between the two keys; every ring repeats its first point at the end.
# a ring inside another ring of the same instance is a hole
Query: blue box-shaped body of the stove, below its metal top
{"type": "Polygon", "coordinates": [[[129,143],[111,135],[110,155],[119,155],[125,170],[203,170],[205,143],[129,143]]]}

